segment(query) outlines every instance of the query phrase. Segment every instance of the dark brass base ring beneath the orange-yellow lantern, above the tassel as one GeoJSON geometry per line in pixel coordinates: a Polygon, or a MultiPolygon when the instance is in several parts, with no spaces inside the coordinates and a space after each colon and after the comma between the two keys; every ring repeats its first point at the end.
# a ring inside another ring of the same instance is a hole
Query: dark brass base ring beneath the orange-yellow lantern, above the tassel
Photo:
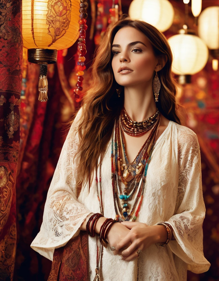
{"type": "Polygon", "coordinates": [[[34,64],[55,64],[57,62],[57,50],[50,49],[28,49],[28,62],[34,64]]]}

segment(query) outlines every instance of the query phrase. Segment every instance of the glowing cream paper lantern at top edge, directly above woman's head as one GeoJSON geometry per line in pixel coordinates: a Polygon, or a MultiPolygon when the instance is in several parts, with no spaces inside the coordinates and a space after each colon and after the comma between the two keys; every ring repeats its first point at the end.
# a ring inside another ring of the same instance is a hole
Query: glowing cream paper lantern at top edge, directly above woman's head
{"type": "Polygon", "coordinates": [[[129,6],[129,16],[148,22],[163,32],[172,25],[174,10],[168,0],[133,0],[129,6]]]}

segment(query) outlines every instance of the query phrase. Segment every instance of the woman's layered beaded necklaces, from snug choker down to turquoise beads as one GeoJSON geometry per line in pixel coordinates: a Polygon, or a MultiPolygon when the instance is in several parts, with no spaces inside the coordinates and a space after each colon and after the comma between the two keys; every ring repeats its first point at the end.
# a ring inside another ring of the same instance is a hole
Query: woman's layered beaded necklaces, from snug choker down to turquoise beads
{"type": "Polygon", "coordinates": [[[161,114],[158,109],[151,117],[142,122],[132,121],[125,109],[123,109],[119,118],[116,120],[111,144],[112,187],[116,221],[129,221],[131,219],[135,221],[137,219],[143,200],[148,165],[151,160],[160,120],[161,114]],[[148,122],[149,120],[151,120],[151,122],[148,122]],[[135,130],[136,127],[134,126],[136,123],[138,124],[136,125],[137,130],[135,130]],[[150,129],[149,137],[138,152],[137,157],[132,163],[129,163],[126,157],[122,131],[129,135],[140,135],[150,129]],[[134,134],[132,134],[133,132],[134,134]],[[126,161],[126,164],[123,165],[121,165],[122,150],[126,161]],[[125,185],[123,194],[120,187],[120,180],[125,185]],[[129,203],[132,199],[134,199],[133,205],[129,203]]]}

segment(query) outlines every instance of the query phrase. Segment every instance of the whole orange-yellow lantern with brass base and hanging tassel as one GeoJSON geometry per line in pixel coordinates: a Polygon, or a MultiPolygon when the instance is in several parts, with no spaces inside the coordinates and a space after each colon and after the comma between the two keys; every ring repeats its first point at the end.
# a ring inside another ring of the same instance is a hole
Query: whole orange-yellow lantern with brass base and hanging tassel
{"type": "Polygon", "coordinates": [[[41,64],[39,100],[47,101],[47,64],[57,61],[57,50],[79,37],[80,0],[23,0],[22,35],[28,61],[41,64]]]}

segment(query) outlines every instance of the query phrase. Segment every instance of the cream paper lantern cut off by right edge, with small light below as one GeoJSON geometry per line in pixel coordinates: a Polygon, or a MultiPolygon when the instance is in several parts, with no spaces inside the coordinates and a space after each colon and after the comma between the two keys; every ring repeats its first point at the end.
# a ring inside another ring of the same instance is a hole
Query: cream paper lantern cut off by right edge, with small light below
{"type": "Polygon", "coordinates": [[[198,18],[198,35],[205,41],[213,56],[214,70],[219,58],[219,6],[211,6],[202,11],[198,18]]]}

